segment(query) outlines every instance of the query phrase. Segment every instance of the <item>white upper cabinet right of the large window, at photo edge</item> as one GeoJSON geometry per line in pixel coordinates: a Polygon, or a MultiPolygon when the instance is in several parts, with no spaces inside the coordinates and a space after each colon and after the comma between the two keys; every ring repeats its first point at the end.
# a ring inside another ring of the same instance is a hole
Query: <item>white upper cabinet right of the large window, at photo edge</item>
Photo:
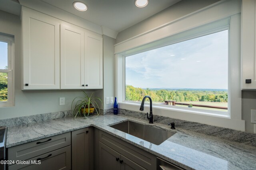
{"type": "Polygon", "coordinates": [[[242,89],[256,89],[256,2],[242,1],[242,89]]]}

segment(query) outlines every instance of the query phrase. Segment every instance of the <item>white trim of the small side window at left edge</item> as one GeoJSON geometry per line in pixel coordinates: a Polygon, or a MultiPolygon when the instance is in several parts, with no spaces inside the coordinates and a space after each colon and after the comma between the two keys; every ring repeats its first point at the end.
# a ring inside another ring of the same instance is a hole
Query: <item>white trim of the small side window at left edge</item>
{"type": "Polygon", "coordinates": [[[8,74],[8,101],[0,102],[0,107],[14,106],[14,38],[0,35],[0,41],[8,43],[8,68],[0,72],[8,74]]]}

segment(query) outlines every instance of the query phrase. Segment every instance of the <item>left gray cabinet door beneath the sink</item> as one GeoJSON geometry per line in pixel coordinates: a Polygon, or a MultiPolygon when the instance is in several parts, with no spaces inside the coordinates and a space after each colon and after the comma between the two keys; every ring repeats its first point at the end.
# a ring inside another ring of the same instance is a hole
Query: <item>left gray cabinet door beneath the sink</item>
{"type": "Polygon", "coordinates": [[[120,154],[100,142],[100,170],[120,170],[120,154]]]}

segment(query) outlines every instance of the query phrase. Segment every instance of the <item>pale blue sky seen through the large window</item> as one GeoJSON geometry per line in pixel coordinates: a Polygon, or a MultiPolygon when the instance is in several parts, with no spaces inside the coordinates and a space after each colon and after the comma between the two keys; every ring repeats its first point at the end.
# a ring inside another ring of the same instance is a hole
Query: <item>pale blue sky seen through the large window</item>
{"type": "Polygon", "coordinates": [[[228,89],[228,30],[126,57],[126,84],[228,89]]]}

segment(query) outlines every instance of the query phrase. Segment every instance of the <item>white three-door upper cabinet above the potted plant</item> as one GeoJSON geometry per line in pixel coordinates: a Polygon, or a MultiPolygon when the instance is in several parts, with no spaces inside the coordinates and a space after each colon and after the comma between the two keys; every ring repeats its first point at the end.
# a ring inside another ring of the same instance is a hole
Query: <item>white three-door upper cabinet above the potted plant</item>
{"type": "Polygon", "coordinates": [[[22,7],[22,90],[103,88],[102,35],[22,7]]]}

